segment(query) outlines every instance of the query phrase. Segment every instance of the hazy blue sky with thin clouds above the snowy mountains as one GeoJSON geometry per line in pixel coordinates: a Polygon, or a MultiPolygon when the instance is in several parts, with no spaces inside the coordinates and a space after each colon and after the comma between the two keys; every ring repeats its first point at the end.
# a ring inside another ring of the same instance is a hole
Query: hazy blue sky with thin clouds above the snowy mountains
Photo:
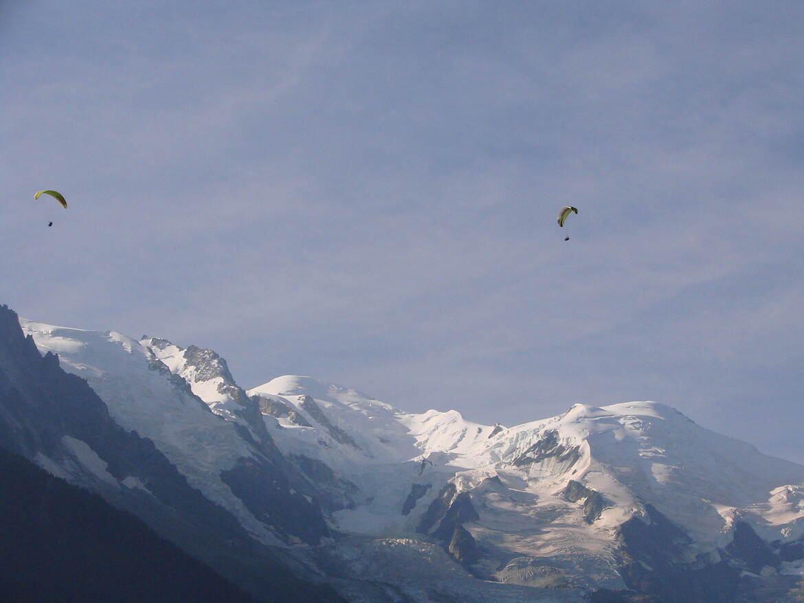
{"type": "Polygon", "coordinates": [[[0,302],[246,388],[506,425],[658,400],[804,461],[802,28],[798,0],[0,0],[0,302]]]}

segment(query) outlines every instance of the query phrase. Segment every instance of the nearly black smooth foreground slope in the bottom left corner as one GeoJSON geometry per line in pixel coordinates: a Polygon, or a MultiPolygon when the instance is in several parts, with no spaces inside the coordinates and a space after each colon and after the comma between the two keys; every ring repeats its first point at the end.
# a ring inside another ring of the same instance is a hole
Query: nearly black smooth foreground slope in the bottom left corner
{"type": "Polygon", "coordinates": [[[255,601],[96,494],[0,449],[0,601],[255,601]]]}

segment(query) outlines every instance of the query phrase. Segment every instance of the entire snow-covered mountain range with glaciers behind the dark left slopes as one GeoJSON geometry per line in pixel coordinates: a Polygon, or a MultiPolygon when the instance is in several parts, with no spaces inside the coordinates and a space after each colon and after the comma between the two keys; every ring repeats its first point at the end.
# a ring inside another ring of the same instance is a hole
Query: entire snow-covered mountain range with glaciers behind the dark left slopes
{"type": "MultiPolygon", "coordinates": [[[[352,601],[786,601],[804,576],[804,466],[664,404],[480,425],[311,377],[244,391],[213,351],[20,324],[254,539],[352,601]]],[[[76,455],[99,471],[92,452],[76,455]]]]}

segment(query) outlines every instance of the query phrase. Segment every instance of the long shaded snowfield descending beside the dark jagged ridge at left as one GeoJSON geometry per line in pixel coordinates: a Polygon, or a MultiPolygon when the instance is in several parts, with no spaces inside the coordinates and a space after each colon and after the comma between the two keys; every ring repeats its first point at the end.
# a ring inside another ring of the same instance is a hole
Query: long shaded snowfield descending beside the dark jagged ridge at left
{"type": "MultiPolygon", "coordinates": [[[[114,331],[69,329],[23,318],[20,326],[40,351],[59,354],[65,371],[87,379],[117,423],[154,441],[191,486],[236,515],[260,540],[278,542],[220,478],[237,459],[252,456],[248,442],[232,421],[215,415],[189,389],[158,371],[148,347],[114,331]]],[[[88,465],[96,473],[95,464],[88,465]]]]}

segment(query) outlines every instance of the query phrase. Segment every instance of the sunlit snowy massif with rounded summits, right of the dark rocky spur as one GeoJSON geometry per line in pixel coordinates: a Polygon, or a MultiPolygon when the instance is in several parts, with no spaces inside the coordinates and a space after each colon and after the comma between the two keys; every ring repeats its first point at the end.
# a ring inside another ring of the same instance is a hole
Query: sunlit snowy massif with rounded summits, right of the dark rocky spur
{"type": "MultiPolygon", "coordinates": [[[[625,589],[621,527],[634,519],[683,528],[688,542],[675,561],[684,563],[720,560],[736,523],[790,551],[802,543],[804,466],[665,404],[575,404],[506,428],[454,410],[402,412],[309,377],[280,377],[248,394],[270,401],[281,449],[318,458],[359,486],[355,507],[332,514],[336,529],[435,535],[487,579],[625,589]]],[[[798,560],[773,571],[804,573],[798,560]]]]}

